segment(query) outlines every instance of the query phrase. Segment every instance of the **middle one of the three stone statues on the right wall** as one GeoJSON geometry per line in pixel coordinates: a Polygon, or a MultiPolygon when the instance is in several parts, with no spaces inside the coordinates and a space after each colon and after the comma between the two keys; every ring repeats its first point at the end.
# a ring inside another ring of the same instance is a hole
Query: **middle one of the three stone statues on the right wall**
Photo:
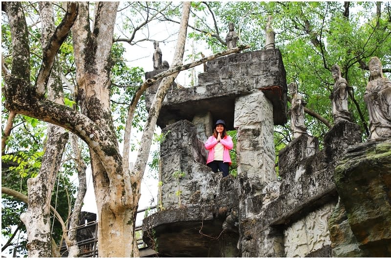
{"type": "Polygon", "coordinates": [[[341,68],[338,65],[331,67],[332,77],[335,81],[333,92],[330,95],[334,124],[341,120],[350,121],[348,111],[348,82],[341,76],[341,68]]]}

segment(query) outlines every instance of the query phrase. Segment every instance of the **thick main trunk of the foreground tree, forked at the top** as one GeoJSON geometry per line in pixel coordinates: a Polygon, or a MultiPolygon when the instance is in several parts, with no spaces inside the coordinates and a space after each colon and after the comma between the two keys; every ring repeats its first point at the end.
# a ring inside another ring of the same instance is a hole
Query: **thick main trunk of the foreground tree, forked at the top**
{"type": "Polygon", "coordinates": [[[99,2],[93,31],[89,30],[88,5],[80,3],[72,28],[76,80],[82,113],[106,133],[112,145],[107,158],[90,146],[92,178],[98,209],[100,257],[132,257],[134,216],[129,170],[123,170],[109,106],[110,50],[118,2],[99,2]]]}

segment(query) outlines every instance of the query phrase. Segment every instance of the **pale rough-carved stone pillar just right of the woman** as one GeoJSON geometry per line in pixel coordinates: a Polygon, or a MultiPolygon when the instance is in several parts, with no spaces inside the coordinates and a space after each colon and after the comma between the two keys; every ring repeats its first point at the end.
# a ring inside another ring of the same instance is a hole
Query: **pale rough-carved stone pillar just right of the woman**
{"type": "Polygon", "coordinates": [[[262,190],[276,180],[273,105],[263,92],[236,99],[234,127],[238,130],[238,175],[246,175],[251,185],[262,190]]]}

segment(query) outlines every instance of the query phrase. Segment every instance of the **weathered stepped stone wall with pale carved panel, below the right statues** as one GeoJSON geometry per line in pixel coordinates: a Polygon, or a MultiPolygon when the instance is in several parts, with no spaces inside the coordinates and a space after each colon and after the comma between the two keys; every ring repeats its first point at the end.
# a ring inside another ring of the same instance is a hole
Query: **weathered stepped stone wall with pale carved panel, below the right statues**
{"type": "Polygon", "coordinates": [[[265,185],[261,200],[254,201],[242,195],[252,193],[253,189],[251,185],[243,184],[248,182],[246,178],[239,178],[239,186],[243,186],[239,207],[240,204],[251,203],[254,211],[259,210],[259,213],[254,215],[239,211],[239,255],[329,256],[331,247],[325,219],[338,200],[333,181],[337,160],[332,158],[341,156],[344,150],[339,149],[341,153],[337,151],[333,156],[326,154],[326,150],[329,150],[330,146],[347,147],[359,141],[358,125],[349,122],[336,124],[326,134],[324,149],[321,151],[318,150],[318,140],[314,137],[302,135],[294,139],[279,154],[281,182],[272,181],[265,185]],[[344,136],[346,132],[348,133],[344,136]],[[318,227],[321,227],[322,231],[318,230],[318,227]],[[291,230],[297,228],[302,228],[297,235],[303,239],[312,237],[312,240],[306,244],[299,241],[300,239],[297,239],[297,244],[291,242],[295,235],[291,230]],[[296,249],[298,251],[293,252],[296,249]],[[294,253],[298,255],[293,255],[294,253]]]}

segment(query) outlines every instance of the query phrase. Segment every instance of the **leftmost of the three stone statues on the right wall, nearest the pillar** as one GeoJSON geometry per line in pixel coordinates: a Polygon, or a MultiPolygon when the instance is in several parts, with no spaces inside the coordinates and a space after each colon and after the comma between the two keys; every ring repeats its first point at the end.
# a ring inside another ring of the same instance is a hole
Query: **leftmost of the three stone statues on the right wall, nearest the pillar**
{"type": "Polygon", "coordinates": [[[302,134],[307,134],[307,128],[304,126],[304,106],[303,97],[297,93],[297,84],[292,82],[288,84],[289,94],[292,97],[290,114],[290,127],[293,131],[293,138],[298,138],[302,134]]]}

